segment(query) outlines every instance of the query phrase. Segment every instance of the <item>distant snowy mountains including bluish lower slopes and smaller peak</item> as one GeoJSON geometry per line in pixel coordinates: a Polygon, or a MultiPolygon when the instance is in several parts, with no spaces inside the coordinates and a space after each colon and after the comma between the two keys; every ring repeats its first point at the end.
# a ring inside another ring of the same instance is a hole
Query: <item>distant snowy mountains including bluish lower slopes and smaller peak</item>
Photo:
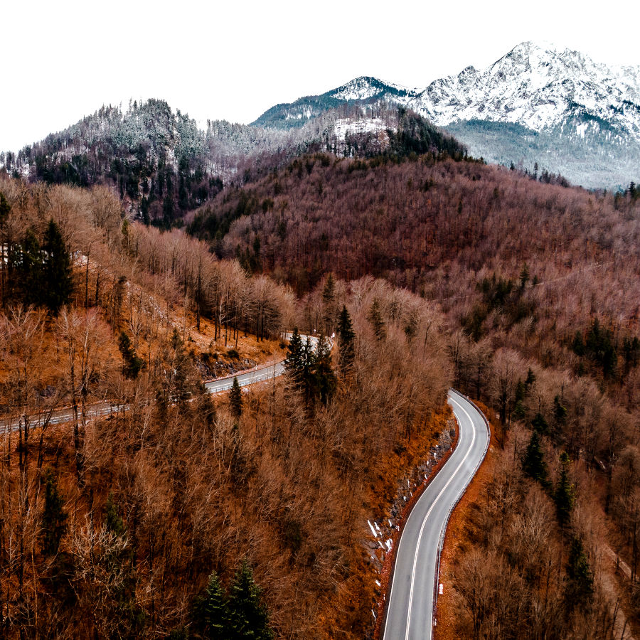
{"type": "Polygon", "coordinates": [[[276,105],[255,124],[291,129],[342,105],[405,105],[474,156],[587,187],[624,187],[640,174],[640,67],[612,67],[549,44],[524,42],[488,68],[469,66],[424,90],[356,78],[276,105]]]}

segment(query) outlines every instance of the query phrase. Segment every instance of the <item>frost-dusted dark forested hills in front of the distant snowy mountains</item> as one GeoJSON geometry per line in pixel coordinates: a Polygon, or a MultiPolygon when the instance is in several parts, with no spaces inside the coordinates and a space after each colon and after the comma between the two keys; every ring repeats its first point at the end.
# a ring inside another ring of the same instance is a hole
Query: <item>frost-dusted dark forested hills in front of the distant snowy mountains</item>
{"type": "Polygon", "coordinates": [[[341,105],[294,131],[215,120],[204,130],[164,100],[100,107],[68,129],[2,152],[0,169],[49,184],[111,186],[127,212],[164,229],[225,186],[286,165],[309,151],[345,157],[465,150],[422,117],[385,105],[341,105]]]}

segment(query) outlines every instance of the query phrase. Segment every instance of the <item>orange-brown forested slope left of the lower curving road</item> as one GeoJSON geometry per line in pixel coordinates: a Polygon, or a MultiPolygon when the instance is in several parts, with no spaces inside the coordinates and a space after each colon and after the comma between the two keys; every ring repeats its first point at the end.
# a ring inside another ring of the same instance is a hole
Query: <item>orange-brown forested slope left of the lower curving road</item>
{"type": "Polygon", "coordinates": [[[369,634],[366,521],[448,415],[434,306],[370,278],[297,300],[103,186],[0,176],[0,203],[1,634],[369,634]],[[285,352],[283,379],[203,388],[285,352]]]}

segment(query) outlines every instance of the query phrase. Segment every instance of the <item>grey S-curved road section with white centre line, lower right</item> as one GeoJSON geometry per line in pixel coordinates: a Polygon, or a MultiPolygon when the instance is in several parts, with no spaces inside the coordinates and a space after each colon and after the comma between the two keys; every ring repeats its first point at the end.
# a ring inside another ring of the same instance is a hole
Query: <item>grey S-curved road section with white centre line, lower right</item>
{"type": "Polygon", "coordinates": [[[449,516],[489,448],[484,415],[449,391],[459,425],[457,447],[415,503],[400,536],[388,592],[384,640],[429,640],[437,599],[439,553],[449,516]]]}

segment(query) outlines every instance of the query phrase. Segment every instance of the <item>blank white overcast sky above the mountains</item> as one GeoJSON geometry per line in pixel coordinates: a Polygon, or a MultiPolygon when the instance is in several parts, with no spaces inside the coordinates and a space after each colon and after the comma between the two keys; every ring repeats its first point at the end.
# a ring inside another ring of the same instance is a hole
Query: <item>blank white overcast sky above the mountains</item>
{"type": "Polygon", "coordinates": [[[199,122],[252,122],[358,75],[410,87],[525,40],[639,65],[635,3],[428,0],[11,1],[2,8],[0,149],[102,104],[164,98],[199,122]]]}

